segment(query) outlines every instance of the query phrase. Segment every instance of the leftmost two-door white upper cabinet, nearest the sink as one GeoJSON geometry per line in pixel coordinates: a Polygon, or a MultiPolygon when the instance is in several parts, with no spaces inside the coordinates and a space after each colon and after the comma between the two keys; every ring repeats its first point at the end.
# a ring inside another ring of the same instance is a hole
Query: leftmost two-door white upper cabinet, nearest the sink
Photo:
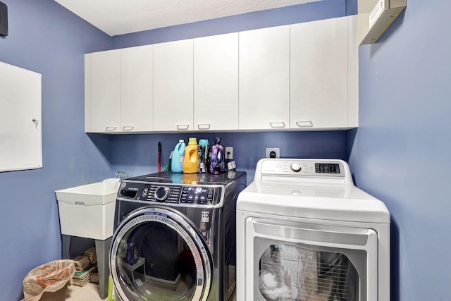
{"type": "Polygon", "coordinates": [[[153,45],[85,55],[85,131],[153,130],[153,45]]]}

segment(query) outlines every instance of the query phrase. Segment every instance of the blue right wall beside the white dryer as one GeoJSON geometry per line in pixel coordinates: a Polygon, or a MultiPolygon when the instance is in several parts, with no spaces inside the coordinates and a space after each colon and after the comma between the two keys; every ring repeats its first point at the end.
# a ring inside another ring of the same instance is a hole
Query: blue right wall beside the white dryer
{"type": "Polygon", "coordinates": [[[359,50],[347,149],[357,185],[392,214],[391,300],[451,300],[450,11],[450,1],[408,0],[359,50]]]}

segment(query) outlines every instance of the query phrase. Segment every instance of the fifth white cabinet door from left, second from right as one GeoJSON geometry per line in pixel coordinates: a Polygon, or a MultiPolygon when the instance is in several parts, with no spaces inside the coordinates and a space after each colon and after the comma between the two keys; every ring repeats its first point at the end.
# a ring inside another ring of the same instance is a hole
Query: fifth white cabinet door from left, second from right
{"type": "Polygon", "coordinates": [[[240,130],[288,128],[290,25],[240,32],[240,130]]]}

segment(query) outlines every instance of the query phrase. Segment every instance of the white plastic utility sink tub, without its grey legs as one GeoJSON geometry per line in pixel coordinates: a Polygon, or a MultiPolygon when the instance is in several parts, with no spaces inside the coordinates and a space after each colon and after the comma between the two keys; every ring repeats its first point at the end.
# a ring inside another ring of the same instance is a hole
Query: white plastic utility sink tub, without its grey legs
{"type": "Polygon", "coordinates": [[[56,190],[61,234],[106,240],[113,235],[116,195],[120,180],[56,190]]]}

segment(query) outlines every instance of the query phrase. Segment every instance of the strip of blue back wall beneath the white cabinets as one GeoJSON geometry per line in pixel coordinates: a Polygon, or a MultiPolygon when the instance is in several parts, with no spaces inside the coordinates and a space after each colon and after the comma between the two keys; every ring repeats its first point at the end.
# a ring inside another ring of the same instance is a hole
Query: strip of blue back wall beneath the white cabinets
{"type": "Polygon", "coordinates": [[[345,159],[345,132],[278,132],[278,133],[192,133],[166,135],[114,135],[111,137],[113,170],[139,176],[157,171],[158,142],[161,142],[162,170],[179,139],[221,137],[221,145],[233,146],[237,169],[247,171],[247,182],[254,179],[257,161],[266,156],[266,147],[279,147],[285,158],[345,159]]]}

